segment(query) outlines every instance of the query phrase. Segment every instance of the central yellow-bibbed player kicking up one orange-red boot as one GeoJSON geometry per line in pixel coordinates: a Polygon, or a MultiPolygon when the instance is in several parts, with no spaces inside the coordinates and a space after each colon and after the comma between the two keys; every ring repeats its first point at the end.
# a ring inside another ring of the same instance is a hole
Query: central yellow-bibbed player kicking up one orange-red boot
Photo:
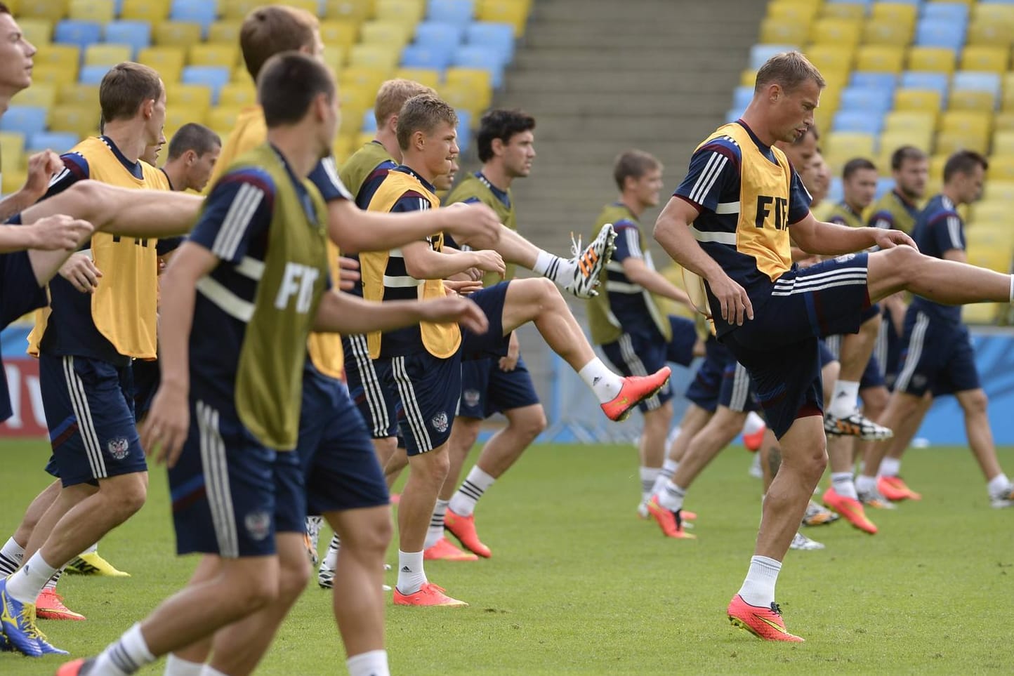
{"type": "MultiPolygon", "coordinates": [[[[454,109],[434,96],[424,94],[406,101],[397,123],[404,164],[384,177],[370,201],[370,210],[435,208],[438,199],[433,180],[449,172],[458,152],[456,124],[454,109]]],[[[442,249],[443,235],[436,234],[396,250],[363,252],[364,297],[425,299],[443,294],[443,278],[474,268],[506,272],[503,258],[495,251],[442,249]]],[[[550,347],[579,372],[611,420],[626,418],[638,401],[654,394],[668,378],[668,368],[652,376],[626,379],[609,371],[595,358],[560,292],[548,281],[515,280],[472,297],[490,317],[488,336],[462,336],[455,325],[427,323],[382,336],[365,336],[370,358],[386,367],[382,385],[399,392],[399,424],[412,470],[399,504],[396,604],[465,605],[430,583],[423,570],[427,528],[447,474],[447,440],[461,394],[462,356],[503,356],[510,331],[530,321],[550,347]]]]}

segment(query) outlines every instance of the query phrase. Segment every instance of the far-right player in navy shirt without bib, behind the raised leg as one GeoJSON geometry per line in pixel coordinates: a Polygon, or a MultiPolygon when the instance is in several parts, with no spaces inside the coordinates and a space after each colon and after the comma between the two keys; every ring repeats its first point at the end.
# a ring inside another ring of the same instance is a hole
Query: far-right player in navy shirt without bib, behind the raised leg
{"type": "MultiPolygon", "coordinates": [[[[964,223],[957,208],[982,196],[987,167],[985,157],[968,150],[958,151],[947,159],[943,189],[919,214],[912,231],[913,239],[925,254],[958,262],[967,259],[964,223]]],[[[997,459],[987,414],[988,399],[980,384],[968,327],[961,322],[961,308],[926,298],[913,299],[906,313],[902,343],[901,368],[884,414],[885,423],[915,418],[913,425],[918,429],[927,396],[954,394],[964,412],[968,447],[986,477],[990,504],[998,508],[1014,505],[1014,486],[997,459]]],[[[897,476],[908,442],[909,439],[898,439],[896,444],[877,449],[880,457],[874,454],[873,462],[864,467],[857,487],[876,489],[877,470],[888,449],[891,462],[887,475],[897,476]]],[[[908,486],[906,490],[911,492],[908,486]]]]}

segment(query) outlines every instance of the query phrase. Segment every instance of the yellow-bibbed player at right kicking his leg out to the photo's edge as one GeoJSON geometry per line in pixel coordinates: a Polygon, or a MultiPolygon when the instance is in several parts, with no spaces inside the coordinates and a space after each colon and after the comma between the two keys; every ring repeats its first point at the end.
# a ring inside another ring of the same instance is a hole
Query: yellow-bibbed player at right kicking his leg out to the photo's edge
{"type": "Polygon", "coordinates": [[[655,226],[669,255],[705,281],[718,337],[750,374],[782,446],[755,555],[728,606],[734,623],[772,641],[802,641],[785,629],[775,583],[826,466],[817,339],[858,330],[864,308],[901,290],[954,305],[1014,300],[1014,276],[923,255],[900,230],[812,217],[798,175],[772,145],[813,123],[823,84],[798,52],[769,59],[742,118],[699,147],[655,226]],[[724,199],[733,191],[735,206],[724,199]],[[804,251],[839,257],[793,268],[790,228],[804,251]],[[881,250],[853,253],[871,246],[881,250]]]}

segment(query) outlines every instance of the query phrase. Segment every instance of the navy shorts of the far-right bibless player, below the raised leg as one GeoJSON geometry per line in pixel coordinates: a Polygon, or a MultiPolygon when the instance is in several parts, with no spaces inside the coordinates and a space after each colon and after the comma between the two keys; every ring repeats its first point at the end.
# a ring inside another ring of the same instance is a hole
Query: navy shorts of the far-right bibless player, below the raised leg
{"type": "Polygon", "coordinates": [[[909,308],[902,342],[901,368],[894,381],[897,391],[916,396],[930,391],[938,396],[982,387],[971,335],[964,324],[944,322],[909,308]]]}

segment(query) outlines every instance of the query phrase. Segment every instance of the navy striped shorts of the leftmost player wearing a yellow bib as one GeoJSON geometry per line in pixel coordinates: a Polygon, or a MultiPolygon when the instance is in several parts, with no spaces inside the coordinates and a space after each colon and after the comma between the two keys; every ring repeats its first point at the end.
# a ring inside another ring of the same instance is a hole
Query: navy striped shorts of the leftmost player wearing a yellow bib
{"type": "Polygon", "coordinates": [[[148,470],[130,364],[44,353],[39,380],[54,464],[65,486],[148,470]]]}

